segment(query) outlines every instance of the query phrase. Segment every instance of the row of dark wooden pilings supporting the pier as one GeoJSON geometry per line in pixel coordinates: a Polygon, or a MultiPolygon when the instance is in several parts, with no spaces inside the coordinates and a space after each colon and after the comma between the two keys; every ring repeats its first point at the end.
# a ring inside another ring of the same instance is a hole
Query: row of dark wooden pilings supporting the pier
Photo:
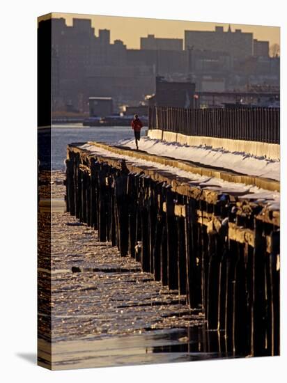
{"type": "Polygon", "coordinates": [[[216,203],[179,194],[125,161],[115,166],[72,145],[66,169],[67,211],[98,230],[101,242],[186,295],[208,329],[224,331],[229,352],[279,354],[278,227],[236,214],[226,194],[216,203]],[[254,233],[251,242],[231,239],[229,226],[237,224],[254,233]]]}

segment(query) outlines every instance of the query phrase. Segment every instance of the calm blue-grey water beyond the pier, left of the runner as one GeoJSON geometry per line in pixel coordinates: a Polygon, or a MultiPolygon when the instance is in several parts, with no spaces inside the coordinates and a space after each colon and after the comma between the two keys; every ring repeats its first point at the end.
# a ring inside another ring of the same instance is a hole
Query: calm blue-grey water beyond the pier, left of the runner
{"type": "MultiPolygon", "coordinates": [[[[141,130],[145,134],[146,128],[141,130]]],[[[129,126],[83,127],[82,124],[62,124],[52,127],[52,170],[65,169],[68,143],[101,141],[116,143],[121,139],[132,139],[134,132],[129,126]]]]}

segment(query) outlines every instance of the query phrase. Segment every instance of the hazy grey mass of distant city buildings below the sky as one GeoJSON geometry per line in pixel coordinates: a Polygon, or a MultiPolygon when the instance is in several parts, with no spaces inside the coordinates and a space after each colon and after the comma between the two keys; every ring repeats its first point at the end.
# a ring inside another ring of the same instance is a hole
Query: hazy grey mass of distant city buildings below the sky
{"type": "MultiPolygon", "coordinates": [[[[88,99],[93,95],[112,97],[115,112],[123,105],[139,105],[147,94],[157,93],[160,100],[160,88],[155,89],[158,76],[173,86],[181,84],[179,88],[183,83],[194,83],[196,91],[242,90],[247,84],[279,85],[280,59],[267,55],[267,42],[231,28],[224,32],[217,27],[208,35],[205,31],[185,31],[185,50],[182,39],[153,35],[141,39],[141,49],[127,49],[121,40],[111,42],[108,29],[100,29],[96,36],[91,19],[75,18],[71,26],[64,18],[49,19],[40,22],[38,29],[40,34],[45,29],[51,31],[52,111],[88,113],[88,99]],[[199,44],[190,36],[199,36],[199,44]]],[[[169,91],[171,94],[171,88],[169,91]]],[[[179,103],[188,104],[186,100],[179,103]]]]}

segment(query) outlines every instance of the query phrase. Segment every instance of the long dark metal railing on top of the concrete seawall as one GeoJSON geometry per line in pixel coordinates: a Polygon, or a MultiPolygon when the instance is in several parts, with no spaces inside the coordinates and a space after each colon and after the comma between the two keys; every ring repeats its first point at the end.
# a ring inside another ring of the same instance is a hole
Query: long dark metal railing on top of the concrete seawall
{"type": "Polygon", "coordinates": [[[279,108],[149,107],[148,128],[187,136],[279,143],[279,108]]]}

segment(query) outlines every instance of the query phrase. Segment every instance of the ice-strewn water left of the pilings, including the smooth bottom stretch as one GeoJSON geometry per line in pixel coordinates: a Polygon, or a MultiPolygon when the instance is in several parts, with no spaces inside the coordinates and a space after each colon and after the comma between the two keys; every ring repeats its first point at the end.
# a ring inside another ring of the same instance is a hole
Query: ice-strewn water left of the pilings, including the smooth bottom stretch
{"type": "MultiPolygon", "coordinates": [[[[40,328],[49,323],[47,281],[52,291],[52,368],[166,363],[230,357],[224,338],[207,331],[185,296],[141,272],[93,228],[65,212],[61,171],[42,185],[40,224],[52,221],[51,260],[39,237],[40,328]],[[47,219],[49,192],[52,214],[47,219]]],[[[42,331],[45,334],[45,331],[42,331]]],[[[39,361],[49,357],[49,336],[39,339],[39,361]]]]}

